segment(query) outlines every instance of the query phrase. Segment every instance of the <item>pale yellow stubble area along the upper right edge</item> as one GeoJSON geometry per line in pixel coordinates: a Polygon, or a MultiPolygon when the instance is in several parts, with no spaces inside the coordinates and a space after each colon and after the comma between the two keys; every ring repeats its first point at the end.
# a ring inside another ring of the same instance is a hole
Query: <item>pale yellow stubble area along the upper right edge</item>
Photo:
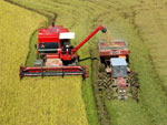
{"type": "Polygon", "coordinates": [[[144,3],[145,10],[136,15],[136,24],[148,48],[157,75],[160,77],[159,84],[167,91],[167,2],[158,0],[144,3]]]}

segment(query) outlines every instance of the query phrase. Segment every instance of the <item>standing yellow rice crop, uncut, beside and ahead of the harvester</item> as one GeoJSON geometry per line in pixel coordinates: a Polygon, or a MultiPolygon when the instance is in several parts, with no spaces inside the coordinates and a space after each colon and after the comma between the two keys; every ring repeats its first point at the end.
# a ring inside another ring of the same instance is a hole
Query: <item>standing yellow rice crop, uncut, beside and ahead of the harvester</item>
{"type": "Polygon", "coordinates": [[[0,124],[87,125],[81,77],[19,80],[31,33],[47,19],[0,1],[0,124]]]}

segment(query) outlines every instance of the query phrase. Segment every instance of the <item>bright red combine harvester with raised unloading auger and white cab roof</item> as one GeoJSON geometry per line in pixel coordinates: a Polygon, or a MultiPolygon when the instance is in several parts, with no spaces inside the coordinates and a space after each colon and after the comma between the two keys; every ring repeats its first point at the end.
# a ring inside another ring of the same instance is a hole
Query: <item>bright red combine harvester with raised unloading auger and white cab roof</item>
{"type": "Polygon", "coordinates": [[[55,76],[55,75],[82,75],[88,76],[87,66],[78,65],[79,56],[76,53],[99,30],[104,33],[106,28],[99,25],[79,45],[70,45],[70,39],[75,33],[69,32],[62,25],[52,25],[49,29],[40,29],[38,33],[38,59],[35,66],[20,66],[19,76],[55,76]]]}

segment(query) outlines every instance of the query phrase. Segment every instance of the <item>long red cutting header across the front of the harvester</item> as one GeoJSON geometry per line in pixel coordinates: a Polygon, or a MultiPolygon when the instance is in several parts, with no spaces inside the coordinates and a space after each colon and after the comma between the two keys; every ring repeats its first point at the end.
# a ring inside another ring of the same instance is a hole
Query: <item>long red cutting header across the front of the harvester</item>
{"type": "Polygon", "coordinates": [[[65,75],[82,75],[85,80],[88,77],[87,66],[36,66],[23,67],[20,66],[19,76],[65,76],[65,75]]]}

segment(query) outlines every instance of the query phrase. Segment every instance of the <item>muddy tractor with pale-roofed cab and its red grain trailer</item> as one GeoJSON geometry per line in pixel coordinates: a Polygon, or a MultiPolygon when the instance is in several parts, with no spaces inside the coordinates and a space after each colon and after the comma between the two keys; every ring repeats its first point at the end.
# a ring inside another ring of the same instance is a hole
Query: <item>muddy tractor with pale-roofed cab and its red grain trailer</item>
{"type": "Polygon", "coordinates": [[[111,74],[111,88],[115,92],[114,96],[119,100],[128,98],[130,84],[127,81],[129,53],[128,45],[124,40],[106,41],[101,40],[98,43],[100,64],[105,65],[106,72],[111,74]]]}

